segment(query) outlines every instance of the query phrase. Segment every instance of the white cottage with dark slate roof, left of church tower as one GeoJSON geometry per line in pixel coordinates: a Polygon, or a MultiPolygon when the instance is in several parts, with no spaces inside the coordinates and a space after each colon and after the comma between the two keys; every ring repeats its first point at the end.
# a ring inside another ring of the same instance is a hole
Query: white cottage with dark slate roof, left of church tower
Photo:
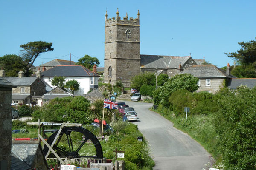
{"type": "Polygon", "coordinates": [[[51,84],[51,80],[59,76],[65,77],[65,82],[73,79],[79,82],[80,88],[74,91],[74,95],[87,94],[91,89],[98,88],[99,75],[96,73],[96,65],[93,71],[82,65],[59,65],[42,72],[42,79],[52,88],[56,86],[51,84]]]}

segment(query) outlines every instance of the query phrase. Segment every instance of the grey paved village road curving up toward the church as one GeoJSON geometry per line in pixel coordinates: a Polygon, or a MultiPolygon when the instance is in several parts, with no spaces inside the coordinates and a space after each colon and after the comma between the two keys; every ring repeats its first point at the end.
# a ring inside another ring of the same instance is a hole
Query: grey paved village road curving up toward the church
{"type": "Polygon", "coordinates": [[[139,130],[151,146],[154,170],[202,170],[210,161],[210,154],[173,123],[148,110],[152,103],[125,101],[138,113],[139,130]]]}

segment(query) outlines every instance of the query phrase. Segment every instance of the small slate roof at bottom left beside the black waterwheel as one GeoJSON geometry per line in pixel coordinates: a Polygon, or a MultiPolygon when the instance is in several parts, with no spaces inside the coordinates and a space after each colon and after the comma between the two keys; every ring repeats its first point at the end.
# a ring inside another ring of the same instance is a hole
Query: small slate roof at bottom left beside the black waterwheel
{"type": "MultiPolygon", "coordinates": [[[[35,159],[35,154],[38,150],[39,143],[38,141],[22,141],[22,142],[12,142],[12,156],[17,156],[18,158],[22,159],[24,162],[26,162],[29,167],[32,167],[32,164],[35,159]]],[[[16,163],[16,159],[12,159],[16,163]]],[[[17,165],[17,164],[16,164],[17,165]]],[[[19,165],[17,165],[19,166],[19,165]]],[[[24,166],[24,165],[22,165],[24,166]]],[[[16,167],[16,166],[14,166],[16,167]]],[[[23,170],[23,169],[20,169],[23,170]]]]}

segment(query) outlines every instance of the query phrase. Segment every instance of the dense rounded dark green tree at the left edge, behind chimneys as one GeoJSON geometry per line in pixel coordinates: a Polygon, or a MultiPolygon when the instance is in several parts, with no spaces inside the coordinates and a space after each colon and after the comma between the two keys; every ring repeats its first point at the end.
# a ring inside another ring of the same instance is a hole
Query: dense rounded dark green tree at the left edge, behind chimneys
{"type": "Polygon", "coordinates": [[[0,68],[5,70],[7,77],[17,77],[20,70],[25,71],[24,62],[17,55],[4,55],[0,57],[0,68]]]}

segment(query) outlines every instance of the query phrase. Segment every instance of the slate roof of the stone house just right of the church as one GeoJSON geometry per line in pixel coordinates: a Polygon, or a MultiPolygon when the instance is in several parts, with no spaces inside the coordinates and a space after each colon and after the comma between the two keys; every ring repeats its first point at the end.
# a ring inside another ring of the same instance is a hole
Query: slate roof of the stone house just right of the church
{"type": "Polygon", "coordinates": [[[184,73],[192,74],[198,78],[236,78],[233,75],[227,75],[226,71],[215,65],[193,65],[180,72],[180,74],[184,73]]]}

